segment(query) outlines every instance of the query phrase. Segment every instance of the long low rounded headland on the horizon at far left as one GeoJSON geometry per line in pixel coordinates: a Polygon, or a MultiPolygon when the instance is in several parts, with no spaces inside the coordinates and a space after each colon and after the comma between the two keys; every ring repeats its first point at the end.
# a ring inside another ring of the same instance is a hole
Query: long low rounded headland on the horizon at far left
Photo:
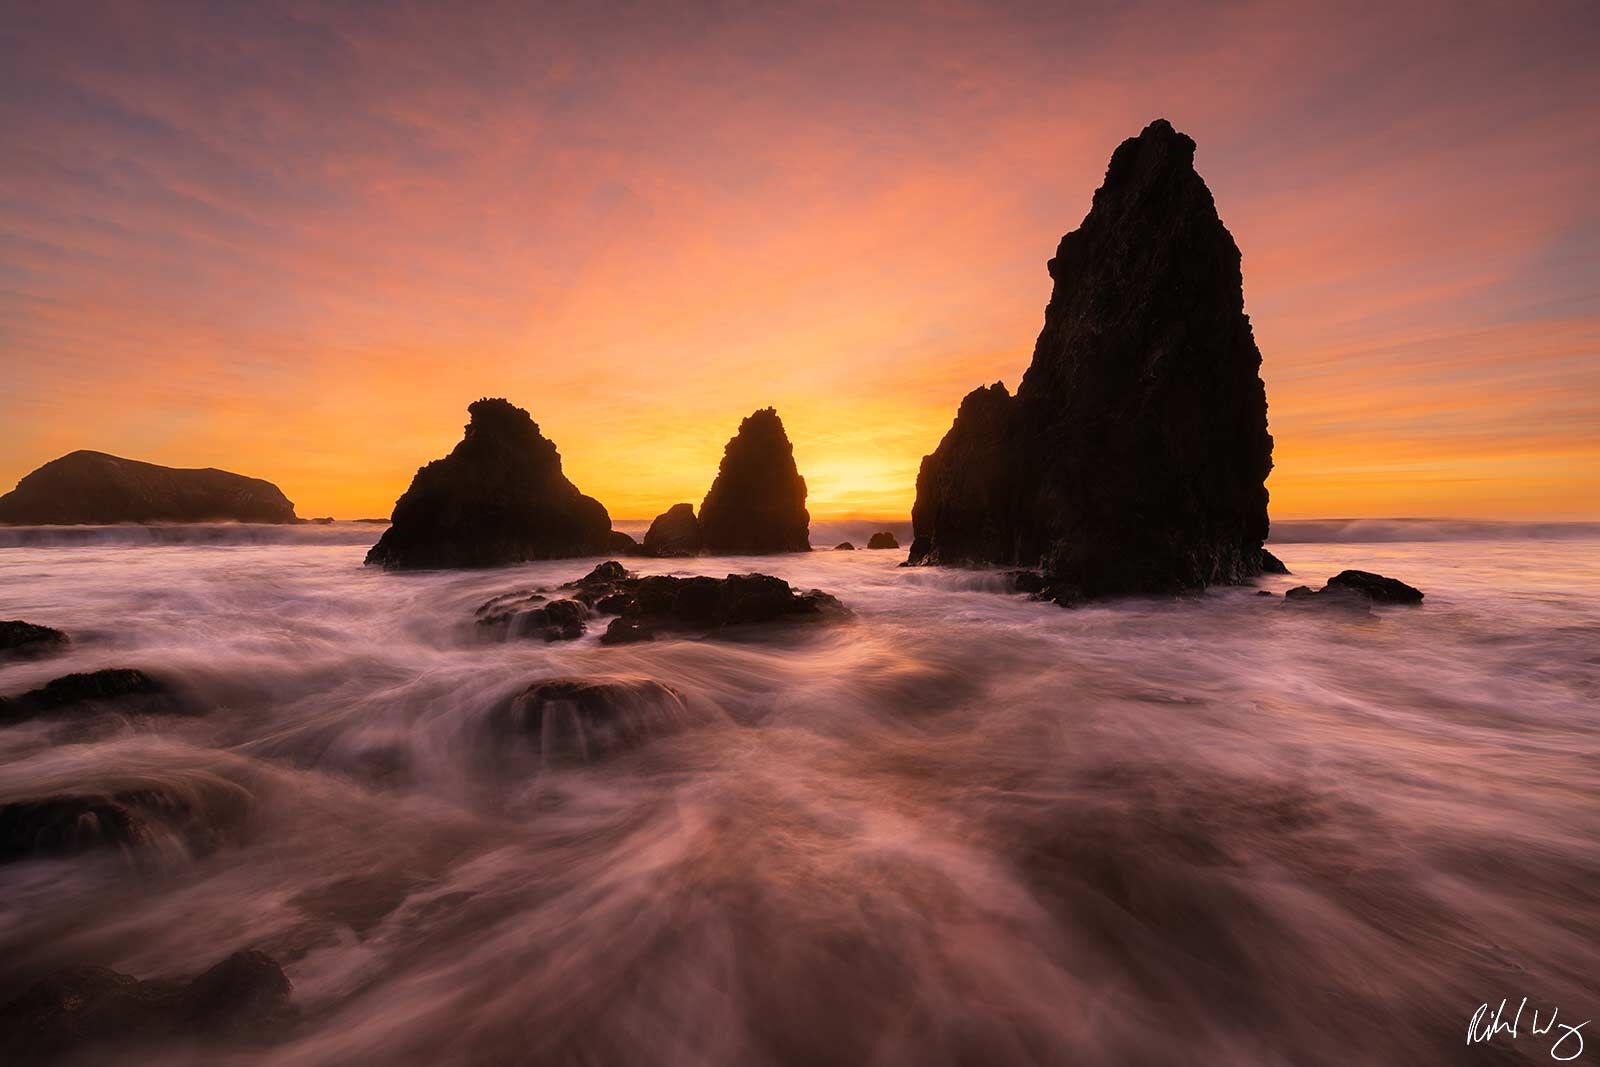
{"type": "Polygon", "coordinates": [[[293,523],[294,506],[270,482],[227,470],[158,467],[77,451],[0,496],[0,523],[293,523]]]}

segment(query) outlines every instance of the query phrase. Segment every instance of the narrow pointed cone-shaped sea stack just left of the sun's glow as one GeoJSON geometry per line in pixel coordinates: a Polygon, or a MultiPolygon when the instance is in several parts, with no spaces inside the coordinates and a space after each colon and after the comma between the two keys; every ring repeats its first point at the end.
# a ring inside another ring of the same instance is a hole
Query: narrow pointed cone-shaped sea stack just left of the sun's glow
{"type": "Polygon", "coordinates": [[[728,442],[717,480],[701,504],[699,528],[707,552],[752,555],[810,552],[811,517],[805,478],[773,408],[762,408],[728,442]]]}

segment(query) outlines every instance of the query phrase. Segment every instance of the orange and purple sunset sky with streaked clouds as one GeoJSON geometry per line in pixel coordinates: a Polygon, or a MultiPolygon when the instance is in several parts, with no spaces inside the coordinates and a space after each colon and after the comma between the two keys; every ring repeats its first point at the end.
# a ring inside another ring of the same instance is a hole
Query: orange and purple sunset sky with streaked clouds
{"type": "Polygon", "coordinates": [[[616,518],[773,405],[909,514],[1157,117],[1243,251],[1277,518],[1600,517],[1600,5],[0,0],[0,488],[387,515],[483,395],[616,518]]]}

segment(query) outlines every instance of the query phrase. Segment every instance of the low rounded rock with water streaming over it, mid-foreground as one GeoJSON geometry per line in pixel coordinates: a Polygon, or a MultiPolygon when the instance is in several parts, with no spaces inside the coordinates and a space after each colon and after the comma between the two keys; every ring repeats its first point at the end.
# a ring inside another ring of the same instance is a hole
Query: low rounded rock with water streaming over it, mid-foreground
{"type": "Polygon", "coordinates": [[[683,696],[645,678],[542,678],[494,712],[496,733],[526,739],[546,761],[594,763],[680,729],[683,696]]]}

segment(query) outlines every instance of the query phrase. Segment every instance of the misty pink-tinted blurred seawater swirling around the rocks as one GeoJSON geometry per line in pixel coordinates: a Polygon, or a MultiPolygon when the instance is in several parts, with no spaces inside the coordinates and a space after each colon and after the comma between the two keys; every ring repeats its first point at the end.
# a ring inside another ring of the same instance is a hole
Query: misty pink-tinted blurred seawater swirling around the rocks
{"type": "Polygon", "coordinates": [[[162,1062],[1550,1062],[1467,1021],[1600,1016],[1600,537],[1277,545],[1275,592],[1427,592],[1373,617],[1064,611],[902,550],[635,560],[854,617],[603,648],[472,629],[594,560],[384,574],[381,526],[202,530],[0,550],[0,619],[74,637],[0,694],[126,665],[210,709],[0,729],[0,803],[162,785],[205,822],[0,865],[0,1000],[246,947],[294,984],[278,1043],[162,1062]],[[496,710],[547,677],[680,699],[546,761],[496,710]]]}

